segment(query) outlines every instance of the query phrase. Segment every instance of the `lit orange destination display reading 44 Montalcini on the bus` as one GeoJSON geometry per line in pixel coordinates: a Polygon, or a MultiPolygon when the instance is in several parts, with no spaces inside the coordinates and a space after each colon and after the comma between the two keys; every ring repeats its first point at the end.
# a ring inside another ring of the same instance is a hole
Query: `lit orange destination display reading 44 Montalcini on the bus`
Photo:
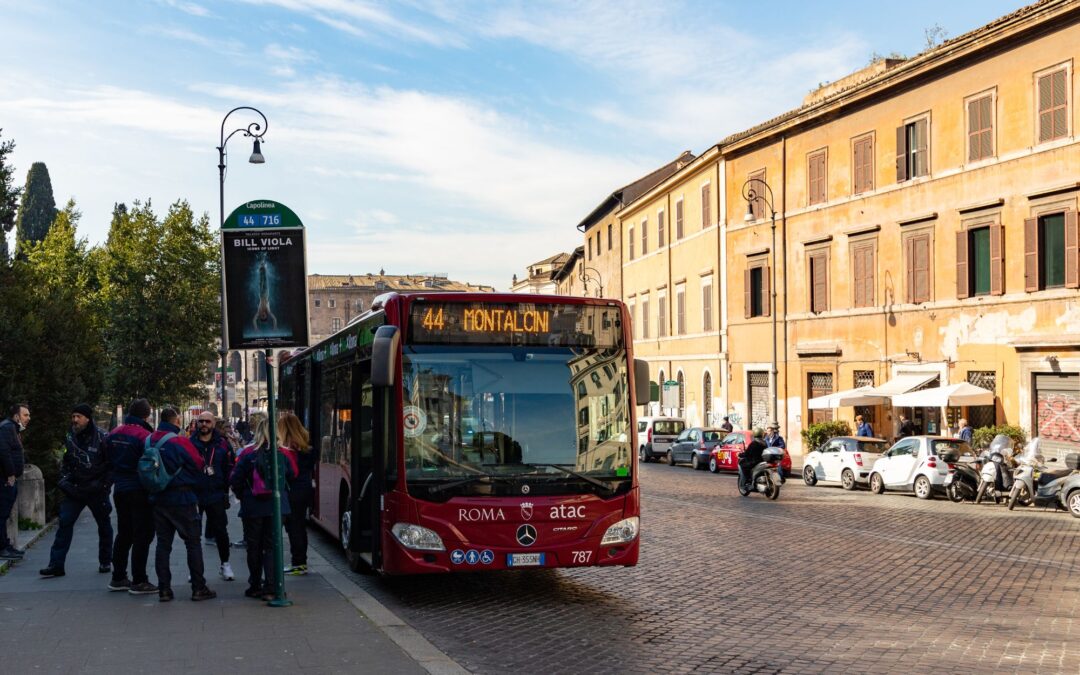
{"type": "Polygon", "coordinates": [[[615,347],[621,318],[617,307],[418,301],[409,324],[421,345],[615,347]]]}

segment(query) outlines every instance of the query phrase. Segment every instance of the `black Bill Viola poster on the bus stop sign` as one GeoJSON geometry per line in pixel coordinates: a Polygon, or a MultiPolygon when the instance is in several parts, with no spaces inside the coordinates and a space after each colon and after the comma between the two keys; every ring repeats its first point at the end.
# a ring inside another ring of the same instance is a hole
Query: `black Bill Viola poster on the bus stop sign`
{"type": "Polygon", "coordinates": [[[221,244],[228,349],[306,347],[303,229],[226,229],[221,244]]]}

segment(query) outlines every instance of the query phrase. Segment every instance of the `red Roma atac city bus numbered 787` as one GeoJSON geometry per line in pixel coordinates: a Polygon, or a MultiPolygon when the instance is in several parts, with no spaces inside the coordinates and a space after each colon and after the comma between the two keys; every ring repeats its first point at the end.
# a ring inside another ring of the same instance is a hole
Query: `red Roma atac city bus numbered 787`
{"type": "Polygon", "coordinates": [[[320,451],[315,523],[390,575],[636,565],[631,350],[616,300],[379,296],[281,367],[320,451]]]}

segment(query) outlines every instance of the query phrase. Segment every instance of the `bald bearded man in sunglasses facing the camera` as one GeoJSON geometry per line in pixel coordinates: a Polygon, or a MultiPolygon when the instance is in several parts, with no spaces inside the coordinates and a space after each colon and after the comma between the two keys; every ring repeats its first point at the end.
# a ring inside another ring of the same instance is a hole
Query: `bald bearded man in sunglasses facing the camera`
{"type": "Polygon", "coordinates": [[[191,445],[199,450],[204,462],[197,497],[199,511],[206,518],[206,531],[213,535],[217,544],[217,556],[221,562],[218,572],[221,579],[232,581],[232,565],[229,564],[229,474],[235,463],[232,446],[228,438],[215,429],[214,414],[200,413],[195,419],[195,433],[191,445]]]}

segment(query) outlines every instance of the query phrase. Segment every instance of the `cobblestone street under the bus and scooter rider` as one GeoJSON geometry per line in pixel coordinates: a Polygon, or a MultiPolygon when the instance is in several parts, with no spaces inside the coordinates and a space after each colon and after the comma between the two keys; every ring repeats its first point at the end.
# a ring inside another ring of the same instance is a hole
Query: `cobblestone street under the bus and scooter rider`
{"type": "MultiPolygon", "coordinates": [[[[1080,670],[1080,522],[642,468],[636,568],[347,573],[481,673],[1080,670]]],[[[345,569],[326,537],[313,544],[345,569]]]]}

